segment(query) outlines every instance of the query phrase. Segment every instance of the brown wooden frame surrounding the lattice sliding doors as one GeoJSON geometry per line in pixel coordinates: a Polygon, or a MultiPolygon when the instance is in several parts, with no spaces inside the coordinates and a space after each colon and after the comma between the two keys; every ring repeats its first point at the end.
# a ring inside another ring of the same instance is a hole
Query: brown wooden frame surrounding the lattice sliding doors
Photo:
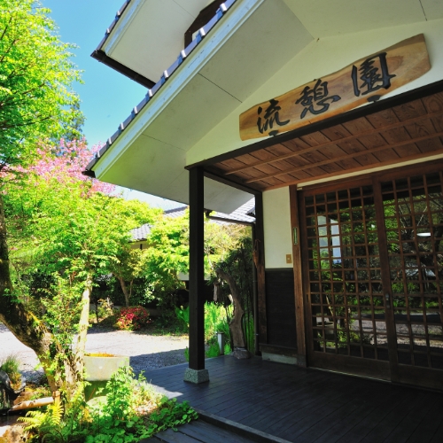
{"type": "MultiPolygon", "coordinates": [[[[388,269],[389,260],[387,253],[387,240],[384,229],[385,219],[384,219],[383,201],[381,194],[381,183],[384,180],[389,181],[389,180],[402,178],[405,176],[424,175],[441,169],[443,169],[443,159],[437,161],[434,160],[432,162],[424,162],[414,166],[396,167],[393,171],[380,171],[378,173],[367,174],[357,178],[349,177],[338,181],[331,181],[329,183],[318,183],[303,188],[302,190],[297,190],[295,185],[290,186],[291,226],[297,227],[299,230],[299,245],[292,245],[292,251],[294,253],[294,287],[295,284],[298,285],[298,289],[295,290],[294,297],[296,299],[297,315],[299,315],[299,311],[297,310],[298,300],[301,298],[301,303],[304,304],[305,318],[303,318],[302,322],[303,330],[299,331],[301,324],[298,325],[298,333],[299,333],[298,339],[301,339],[301,337],[304,339],[304,343],[306,346],[305,351],[306,351],[307,366],[312,365],[312,362],[314,360],[313,354],[315,351],[312,347],[313,331],[312,331],[312,315],[310,312],[311,304],[307,297],[308,294],[307,284],[309,284],[309,276],[308,276],[309,269],[307,267],[308,263],[308,249],[307,249],[307,235],[306,235],[307,224],[306,224],[306,209],[304,205],[304,197],[306,195],[309,195],[310,193],[315,193],[317,190],[327,192],[330,190],[352,188],[352,187],[361,186],[363,184],[370,184],[373,187],[374,202],[377,214],[377,226],[378,226],[377,233],[378,233],[380,265],[382,268],[388,269]],[[299,273],[298,276],[296,276],[296,272],[299,273]],[[301,284],[299,281],[300,277],[301,277],[301,284]],[[298,280],[298,282],[296,282],[296,280],[298,280]],[[301,297],[299,292],[300,289],[302,291],[301,297]]],[[[389,292],[390,296],[392,297],[391,282],[389,280],[389,275],[386,273],[382,274],[382,285],[384,288],[384,294],[385,292],[389,292]]],[[[299,317],[296,319],[297,321],[299,321],[299,317]]],[[[395,333],[395,322],[393,319],[392,307],[386,312],[386,328],[387,328],[386,332],[388,336],[388,350],[389,350],[390,360],[389,362],[388,361],[381,361],[381,362],[382,366],[383,363],[387,363],[389,365],[390,369],[389,380],[392,381],[392,383],[400,383],[401,379],[408,378],[410,380],[408,383],[410,384],[414,384],[414,380],[416,380],[416,385],[428,385],[428,387],[435,388],[438,379],[441,378],[441,374],[439,374],[438,371],[434,369],[427,369],[427,368],[413,367],[413,366],[410,367],[408,366],[408,368],[405,369],[399,365],[397,350],[395,347],[396,333],[395,333]],[[405,377],[406,372],[410,373],[410,377],[405,377]],[[429,378],[429,383],[427,384],[423,383],[424,378],[429,378]],[[421,381],[420,384],[418,383],[418,380],[421,381]]],[[[359,372],[358,375],[361,375],[363,377],[365,376],[377,377],[377,372],[378,372],[379,378],[387,379],[386,377],[383,377],[382,373],[380,373],[379,371],[380,368],[379,365],[377,364],[377,361],[373,361],[370,359],[359,359],[350,356],[348,358],[350,361],[349,364],[347,364],[346,366],[348,369],[351,369],[350,373],[354,372],[352,369],[356,369],[359,372]]],[[[315,360],[317,360],[316,362],[318,362],[319,359],[317,358],[315,360]]],[[[322,360],[321,357],[320,360],[322,360]]],[[[320,367],[318,364],[316,364],[315,367],[319,369],[343,371],[344,366],[342,366],[340,363],[336,364],[335,361],[333,361],[333,359],[330,359],[330,357],[326,357],[325,360],[331,360],[331,361],[329,361],[328,364],[325,365],[321,364],[320,367]]],[[[322,363],[322,361],[320,361],[320,363],[322,363]]]]}

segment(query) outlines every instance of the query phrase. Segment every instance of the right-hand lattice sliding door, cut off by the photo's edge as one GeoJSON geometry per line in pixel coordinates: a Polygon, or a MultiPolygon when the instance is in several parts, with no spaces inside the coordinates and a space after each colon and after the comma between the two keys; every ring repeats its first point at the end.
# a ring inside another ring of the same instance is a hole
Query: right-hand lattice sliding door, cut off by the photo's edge
{"type": "Polygon", "coordinates": [[[443,369],[442,183],[441,172],[382,183],[400,365],[443,369]]]}

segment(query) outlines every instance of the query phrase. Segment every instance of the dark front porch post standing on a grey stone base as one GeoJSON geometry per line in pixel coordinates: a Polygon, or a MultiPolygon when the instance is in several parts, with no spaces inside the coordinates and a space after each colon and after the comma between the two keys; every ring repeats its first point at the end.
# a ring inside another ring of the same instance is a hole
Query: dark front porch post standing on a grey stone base
{"type": "Polygon", "coordinates": [[[184,380],[209,381],[205,369],[205,262],[203,167],[190,169],[190,365],[184,380]]]}

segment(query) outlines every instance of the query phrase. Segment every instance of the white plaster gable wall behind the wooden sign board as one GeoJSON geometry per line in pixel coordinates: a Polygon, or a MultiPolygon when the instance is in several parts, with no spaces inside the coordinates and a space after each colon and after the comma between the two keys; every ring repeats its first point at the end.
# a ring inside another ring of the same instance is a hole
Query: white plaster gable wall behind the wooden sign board
{"type": "Polygon", "coordinates": [[[254,139],[242,142],[239,136],[239,115],[253,105],[284,94],[315,78],[334,73],[359,58],[422,33],[431,59],[431,70],[415,81],[386,94],[382,100],[442,80],[443,19],[316,39],[291,58],[275,75],[201,138],[187,152],[186,163],[191,165],[258,141],[259,139],[254,139]]]}

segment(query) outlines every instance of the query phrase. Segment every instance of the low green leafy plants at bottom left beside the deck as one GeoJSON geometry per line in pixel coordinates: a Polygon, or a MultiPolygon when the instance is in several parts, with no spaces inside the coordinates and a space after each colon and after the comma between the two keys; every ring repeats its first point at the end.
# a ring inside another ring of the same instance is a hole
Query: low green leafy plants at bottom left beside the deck
{"type": "Polygon", "coordinates": [[[105,401],[91,404],[82,400],[79,389],[66,404],[65,414],[55,403],[45,412],[28,412],[21,420],[30,441],[129,443],[198,418],[187,402],[161,396],[143,375],[136,379],[129,367],[115,372],[105,389],[105,401]]]}

